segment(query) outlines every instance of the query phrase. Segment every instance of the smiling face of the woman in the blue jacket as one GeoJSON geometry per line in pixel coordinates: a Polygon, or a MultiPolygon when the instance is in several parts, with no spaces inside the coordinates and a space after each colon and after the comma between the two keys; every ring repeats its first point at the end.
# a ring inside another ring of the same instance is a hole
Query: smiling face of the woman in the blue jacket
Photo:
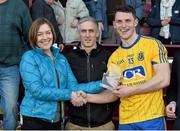
{"type": "Polygon", "coordinates": [[[37,32],[37,46],[44,51],[48,51],[53,43],[53,33],[51,28],[47,24],[43,24],[39,27],[37,32]]]}

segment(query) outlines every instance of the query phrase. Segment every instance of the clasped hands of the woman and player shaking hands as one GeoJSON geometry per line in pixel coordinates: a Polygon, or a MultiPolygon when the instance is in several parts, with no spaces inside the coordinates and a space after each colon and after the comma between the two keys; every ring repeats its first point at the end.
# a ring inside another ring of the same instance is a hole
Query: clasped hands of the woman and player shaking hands
{"type": "Polygon", "coordinates": [[[83,106],[88,102],[87,94],[83,91],[72,92],[71,94],[71,103],[73,106],[83,106]]]}

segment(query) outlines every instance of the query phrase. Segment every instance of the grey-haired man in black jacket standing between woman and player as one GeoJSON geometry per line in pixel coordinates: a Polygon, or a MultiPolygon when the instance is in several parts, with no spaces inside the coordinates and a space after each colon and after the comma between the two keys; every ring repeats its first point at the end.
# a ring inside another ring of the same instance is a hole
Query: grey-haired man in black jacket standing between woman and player
{"type": "MultiPolygon", "coordinates": [[[[91,17],[81,19],[78,24],[78,34],[81,41],[77,49],[66,54],[72,71],[79,83],[101,80],[107,69],[106,63],[110,52],[104,50],[96,42],[99,36],[98,23],[91,17]]],[[[113,130],[115,128],[112,123],[114,105],[113,103],[101,103],[99,100],[107,97],[111,99],[114,96],[105,90],[98,95],[91,96],[92,99],[90,98],[90,101],[88,100],[88,103],[81,107],[70,104],[70,120],[67,122],[66,129],[113,130]]]]}

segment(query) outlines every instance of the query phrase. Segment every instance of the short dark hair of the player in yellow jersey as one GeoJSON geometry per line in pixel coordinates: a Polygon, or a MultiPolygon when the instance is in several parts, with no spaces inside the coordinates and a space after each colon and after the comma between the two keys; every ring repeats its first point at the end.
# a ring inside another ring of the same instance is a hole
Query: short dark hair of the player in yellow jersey
{"type": "Polygon", "coordinates": [[[115,11],[114,20],[115,20],[115,16],[117,12],[132,13],[133,17],[135,19],[137,18],[135,9],[130,5],[123,5],[123,6],[118,7],[115,11]]]}

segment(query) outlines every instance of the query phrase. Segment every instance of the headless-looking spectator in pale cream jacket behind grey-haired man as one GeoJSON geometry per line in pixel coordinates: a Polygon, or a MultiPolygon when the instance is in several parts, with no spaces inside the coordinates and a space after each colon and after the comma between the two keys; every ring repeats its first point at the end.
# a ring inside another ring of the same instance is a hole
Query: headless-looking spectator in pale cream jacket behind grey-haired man
{"type": "Polygon", "coordinates": [[[82,0],[55,0],[51,5],[64,43],[79,41],[77,23],[82,17],[89,16],[89,11],[82,0]]]}

